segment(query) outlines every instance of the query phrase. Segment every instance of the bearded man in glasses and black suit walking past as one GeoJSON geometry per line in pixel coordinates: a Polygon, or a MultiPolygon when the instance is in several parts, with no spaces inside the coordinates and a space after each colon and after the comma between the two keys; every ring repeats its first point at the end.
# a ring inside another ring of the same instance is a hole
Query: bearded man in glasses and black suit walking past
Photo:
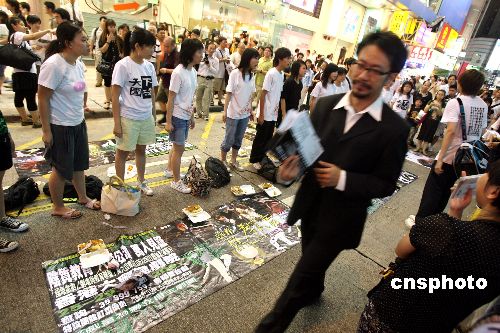
{"type": "MultiPolygon", "coordinates": [[[[363,39],[357,55],[351,92],[320,98],[312,113],[325,151],[306,172],[288,216],[290,225],[302,220],[302,257],[258,333],[284,332],[302,307],[320,297],[332,261],[358,246],[370,200],[396,189],[409,128],[380,94],[403,68],[407,51],[395,34],[376,32],[363,39]]],[[[298,160],[283,162],[280,182],[297,178],[298,160]]]]}

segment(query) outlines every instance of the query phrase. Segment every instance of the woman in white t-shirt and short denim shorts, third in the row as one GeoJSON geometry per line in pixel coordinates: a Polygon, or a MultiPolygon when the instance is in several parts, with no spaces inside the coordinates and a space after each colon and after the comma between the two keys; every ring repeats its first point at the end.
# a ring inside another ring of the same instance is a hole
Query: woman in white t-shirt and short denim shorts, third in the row
{"type": "Polygon", "coordinates": [[[191,189],[181,180],[181,158],[189,129],[194,128],[193,97],[196,92],[196,70],[203,57],[203,44],[198,39],[182,42],[179,65],[172,72],[167,102],[167,123],[165,129],[170,134],[172,151],[168,156],[165,176],[174,178],[170,186],[181,193],[191,189]]]}

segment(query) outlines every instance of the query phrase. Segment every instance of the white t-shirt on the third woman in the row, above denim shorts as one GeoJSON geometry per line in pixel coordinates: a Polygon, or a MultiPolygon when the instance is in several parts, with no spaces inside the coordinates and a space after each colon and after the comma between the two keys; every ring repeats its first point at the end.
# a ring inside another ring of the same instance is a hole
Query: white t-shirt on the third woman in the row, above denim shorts
{"type": "Polygon", "coordinates": [[[196,70],[188,70],[184,65],[179,64],[172,72],[169,90],[173,91],[174,117],[189,120],[193,115],[193,97],[196,91],[196,70]]]}

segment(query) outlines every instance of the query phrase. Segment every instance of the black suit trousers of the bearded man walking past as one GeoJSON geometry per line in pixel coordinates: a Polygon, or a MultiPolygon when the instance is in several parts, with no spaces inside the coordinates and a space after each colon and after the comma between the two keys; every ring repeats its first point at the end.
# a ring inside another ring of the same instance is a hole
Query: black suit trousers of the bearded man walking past
{"type": "Polygon", "coordinates": [[[314,302],[325,289],[325,272],[344,247],[334,239],[318,237],[321,230],[315,227],[317,222],[302,221],[302,257],[273,310],[257,327],[257,333],[285,332],[297,312],[314,302]]]}

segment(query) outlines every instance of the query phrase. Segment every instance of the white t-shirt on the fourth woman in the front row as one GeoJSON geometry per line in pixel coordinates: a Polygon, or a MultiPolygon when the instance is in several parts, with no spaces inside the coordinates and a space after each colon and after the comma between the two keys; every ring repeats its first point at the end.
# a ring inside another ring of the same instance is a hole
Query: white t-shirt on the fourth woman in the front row
{"type": "Polygon", "coordinates": [[[227,106],[227,116],[231,119],[243,119],[250,116],[252,112],[252,95],[256,91],[255,75],[249,79],[248,74],[243,74],[235,69],[229,75],[226,91],[231,93],[231,99],[227,106]]]}

